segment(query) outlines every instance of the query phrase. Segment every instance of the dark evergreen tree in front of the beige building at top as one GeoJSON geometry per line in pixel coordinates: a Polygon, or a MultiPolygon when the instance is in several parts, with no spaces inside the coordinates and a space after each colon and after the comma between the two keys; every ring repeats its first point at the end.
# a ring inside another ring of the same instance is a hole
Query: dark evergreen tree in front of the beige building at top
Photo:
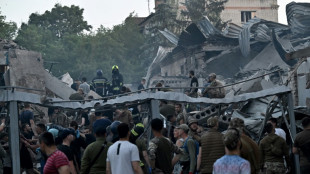
{"type": "Polygon", "coordinates": [[[210,22],[218,29],[225,27],[226,23],[221,19],[224,4],[228,0],[186,0],[187,11],[182,14],[189,17],[192,22],[202,20],[206,15],[210,22]]]}

